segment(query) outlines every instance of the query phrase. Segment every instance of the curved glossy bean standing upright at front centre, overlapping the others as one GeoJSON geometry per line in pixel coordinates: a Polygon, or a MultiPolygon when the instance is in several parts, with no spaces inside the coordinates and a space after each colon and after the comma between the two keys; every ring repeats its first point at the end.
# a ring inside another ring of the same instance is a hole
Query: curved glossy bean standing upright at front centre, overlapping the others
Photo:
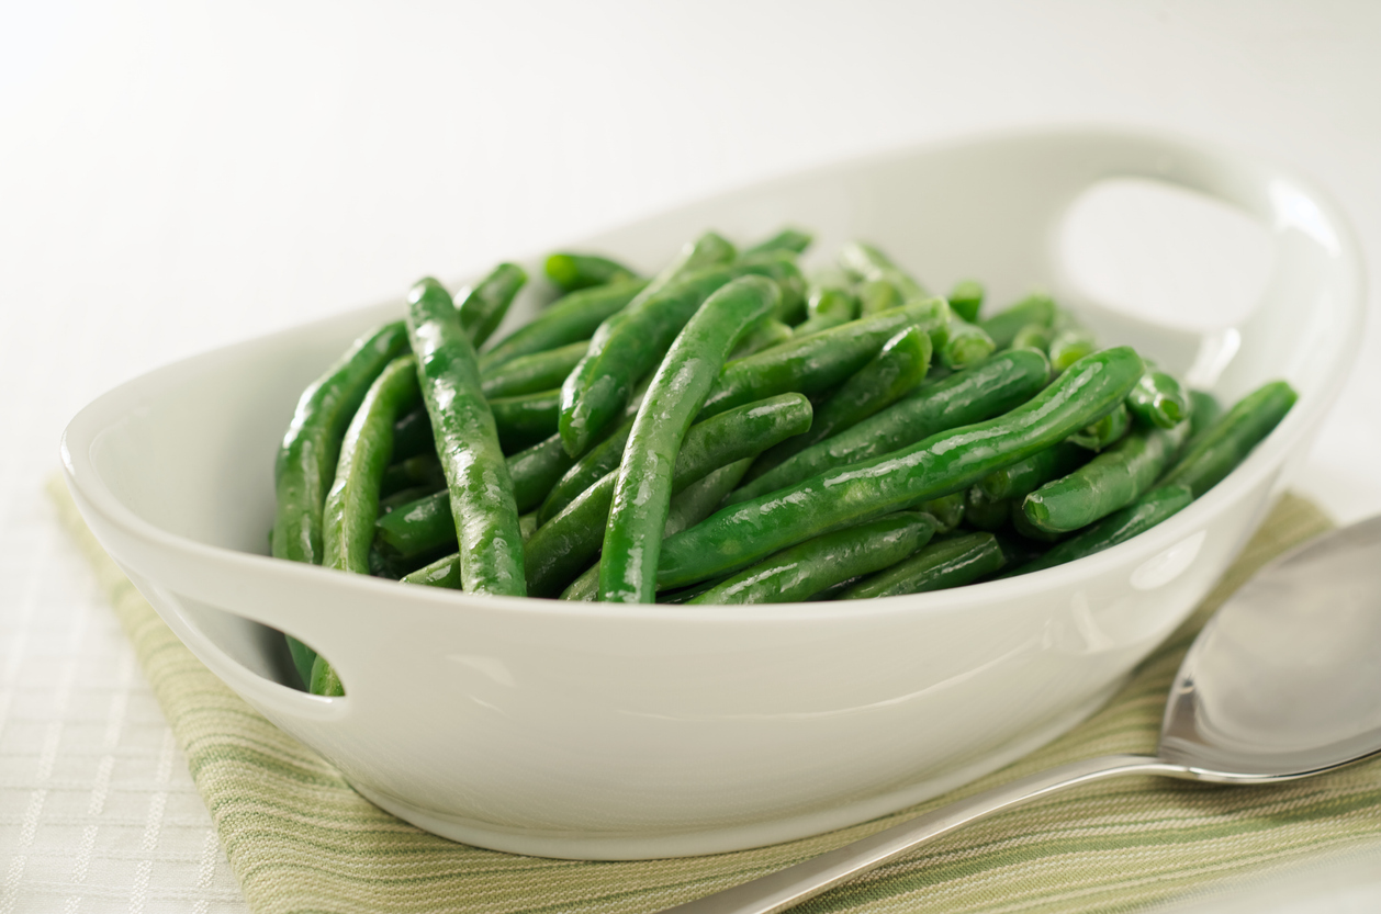
{"type": "Polygon", "coordinates": [[[602,602],[656,602],[661,527],[681,442],[729,352],[780,300],[769,279],[735,279],[706,298],[671,344],[632,420],[619,465],[599,570],[602,602]]]}

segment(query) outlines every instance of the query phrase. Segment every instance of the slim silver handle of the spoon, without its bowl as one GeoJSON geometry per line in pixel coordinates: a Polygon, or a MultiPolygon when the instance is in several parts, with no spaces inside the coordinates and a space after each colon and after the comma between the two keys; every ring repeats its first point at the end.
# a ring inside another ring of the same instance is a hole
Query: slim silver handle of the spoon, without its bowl
{"type": "Polygon", "coordinates": [[[1113,775],[1184,777],[1188,770],[1182,765],[1171,765],[1152,755],[1103,755],[1070,762],[985,790],[732,889],[668,907],[661,914],[776,914],[960,826],[986,819],[1027,799],[1113,775]]]}

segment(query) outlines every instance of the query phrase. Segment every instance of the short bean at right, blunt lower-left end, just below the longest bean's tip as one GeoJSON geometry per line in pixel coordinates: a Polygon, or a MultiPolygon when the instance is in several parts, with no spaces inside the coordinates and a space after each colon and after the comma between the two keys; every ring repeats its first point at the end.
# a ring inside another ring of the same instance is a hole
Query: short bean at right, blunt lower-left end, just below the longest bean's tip
{"type": "Polygon", "coordinates": [[[1047,533],[1085,527],[1149,490],[1179,453],[1188,432],[1189,422],[1137,429],[1079,469],[1026,496],[1022,514],[1047,533]]]}

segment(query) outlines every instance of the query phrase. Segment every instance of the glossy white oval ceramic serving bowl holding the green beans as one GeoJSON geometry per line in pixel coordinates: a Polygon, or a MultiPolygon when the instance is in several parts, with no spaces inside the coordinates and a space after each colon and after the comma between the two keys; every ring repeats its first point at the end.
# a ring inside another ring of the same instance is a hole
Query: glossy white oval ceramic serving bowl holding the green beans
{"type": "Polygon", "coordinates": [[[858,160],[570,242],[650,269],[707,226],[753,237],[791,222],[818,229],[824,251],[867,237],[931,282],[983,278],[997,300],[1032,283],[1059,294],[1054,226],[1080,192],[1117,175],[1240,207],[1271,232],[1275,268],[1257,311],[1226,333],[1090,312],[1102,338],[1175,369],[1232,356],[1215,381],[1225,402],[1275,377],[1301,396],[1196,504],[1063,567],[867,603],[679,607],[476,598],[265,558],[273,454],[298,393],[399,301],[106,393],[66,431],[68,480],[197,657],[423,828],[519,853],[632,859],[860,821],[1066,730],[1207,592],[1304,458],[1356,352],[1351,233],[1280,168],[1080,130],[858,160]],[[284,650],[268,627],[330,657],[348,696],[280,685],[284,650]]]}

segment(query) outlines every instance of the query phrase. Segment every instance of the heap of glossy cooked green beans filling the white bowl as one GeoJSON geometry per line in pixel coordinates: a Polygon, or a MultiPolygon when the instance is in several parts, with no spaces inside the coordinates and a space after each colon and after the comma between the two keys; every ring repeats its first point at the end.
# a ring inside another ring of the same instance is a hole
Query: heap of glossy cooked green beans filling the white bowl
{"type": "MultiPolygon", "coordinates": [[[[413,286],[301,396],[275,558],[568,601],[863,599],[1070,562],[1182,509],[1286,416],[1224,411],[1047,294],[986,313],[852,242],[690,239],[660,271],[557,251],[413,286]],[[492,338],[494,337],[494,338],[492,338]]],[[[302,685],[344,694],[287,632],[302,685]]]]}

